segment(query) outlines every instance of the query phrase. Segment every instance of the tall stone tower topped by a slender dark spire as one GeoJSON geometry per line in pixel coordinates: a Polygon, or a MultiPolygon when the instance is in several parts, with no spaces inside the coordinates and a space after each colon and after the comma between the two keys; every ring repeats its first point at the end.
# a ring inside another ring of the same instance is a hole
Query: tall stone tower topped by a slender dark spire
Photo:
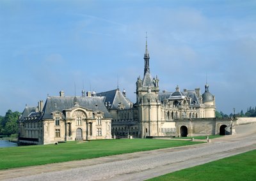
{"type": "Polygon", "coordinates": [[[149,67],[149,53],[146,36],[146,48],[144,54],[144,75],[141,80],[140,76],[136,82],[136,95],[139,119],[139,136],[159,136],[161,127],[161,103],[158,98],[159,80],[152,78],[149,67]]]}

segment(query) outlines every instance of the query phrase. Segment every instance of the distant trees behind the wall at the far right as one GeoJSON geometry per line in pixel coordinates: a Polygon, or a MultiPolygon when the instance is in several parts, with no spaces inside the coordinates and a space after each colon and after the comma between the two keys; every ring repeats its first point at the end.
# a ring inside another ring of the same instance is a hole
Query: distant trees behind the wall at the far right
{"type": "Polygon", "coordinates": [[[253,108],[252,106],[247,108],[246,113],[243,112],[243,110],[241,110],[241,112],[238,113],[230,113],[229,115],[223,113],[223,112],[218,112],[216,110],[215,112],[215,116],[216,118],[227,118],[227,117],[256,117],[256,106],[253,108]]]}

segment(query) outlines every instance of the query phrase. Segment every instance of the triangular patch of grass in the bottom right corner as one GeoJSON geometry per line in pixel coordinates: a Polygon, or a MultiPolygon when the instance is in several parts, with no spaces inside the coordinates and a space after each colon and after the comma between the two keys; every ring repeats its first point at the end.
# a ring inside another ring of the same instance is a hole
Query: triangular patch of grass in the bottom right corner
{"type": "Polygon", "coordinates": [[[149,180],[255,180],[255,178],[256,150],[252,150],[149,180]]]}

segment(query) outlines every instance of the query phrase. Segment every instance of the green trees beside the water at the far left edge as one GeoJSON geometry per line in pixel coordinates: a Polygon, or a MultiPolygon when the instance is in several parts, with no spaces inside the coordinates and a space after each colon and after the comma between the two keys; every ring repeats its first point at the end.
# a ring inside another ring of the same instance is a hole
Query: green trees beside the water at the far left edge
{"type": "Polygon", "coordinates": [[[0,116],[0,135],[10,136],[18,133],[18,123],[21,113],[8,110],[5,116],[0,116]]]}

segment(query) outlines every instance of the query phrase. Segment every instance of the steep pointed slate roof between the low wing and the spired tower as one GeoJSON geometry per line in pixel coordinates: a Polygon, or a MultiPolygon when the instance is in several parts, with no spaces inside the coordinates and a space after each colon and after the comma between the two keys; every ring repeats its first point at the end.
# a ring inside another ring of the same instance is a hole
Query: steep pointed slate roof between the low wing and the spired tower
{"type": "Polygon", "coordinates": [[[118,105],[122,103],[124,105],[124,108],[131,108],[131,101],[129,99],[125,98],[122,92],[119,89],[114,89],[112,91],[107,92],[100,92],[97,93],[97,96],[104,96],[104,103],[110,103],[111,109],[118,108],[118,105]]]}

